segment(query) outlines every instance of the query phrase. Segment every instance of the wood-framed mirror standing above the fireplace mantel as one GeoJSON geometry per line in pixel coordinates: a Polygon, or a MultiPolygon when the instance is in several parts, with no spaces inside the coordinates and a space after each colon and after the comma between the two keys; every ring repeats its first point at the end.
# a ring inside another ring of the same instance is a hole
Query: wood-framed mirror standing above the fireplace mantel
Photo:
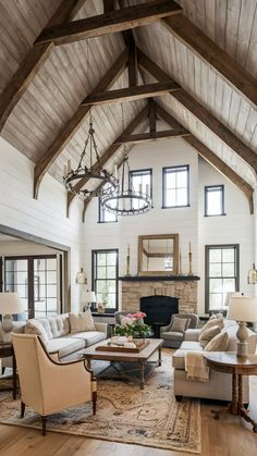
{"type": "Polygon", "coordinates": [[[138,236],[138,275],[179,273],[179,234],[138,236]]]}

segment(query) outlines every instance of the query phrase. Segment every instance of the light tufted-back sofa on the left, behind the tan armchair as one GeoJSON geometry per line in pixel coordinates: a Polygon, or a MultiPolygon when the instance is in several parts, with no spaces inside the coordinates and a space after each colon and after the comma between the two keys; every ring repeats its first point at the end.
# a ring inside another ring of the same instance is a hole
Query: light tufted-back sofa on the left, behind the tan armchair
{"type": "MultiPolygon", "coordinates": [[[[108,324],[96,323],[94,331],[83,331],[71,333],[71,324],[69,313],[61,313],[52,317],[42,317],[38,319],[27,320],[28,322],[37,321],[41,323],[47,333],[47,342],[45,345],[49,354],[57,353],[59,359],[65,359],[66,356],[89,345],[107,338],[108,324]]],[[[15,322],[14,332],[24,333],[26,330],[26,321],[15,322]]],[[[32,333],[32,331],[29,331],[32,333]]],[[[35,332],[36,333],[36,332],[35,332]]],[[[38,334],[38,333],[37,333],[38,334]]],[[[0,338],[3,340],[3,330],[0,325],[0,338]]],[[[11,367],[10,359],[2,359],[2,367],[11,367]]]]}

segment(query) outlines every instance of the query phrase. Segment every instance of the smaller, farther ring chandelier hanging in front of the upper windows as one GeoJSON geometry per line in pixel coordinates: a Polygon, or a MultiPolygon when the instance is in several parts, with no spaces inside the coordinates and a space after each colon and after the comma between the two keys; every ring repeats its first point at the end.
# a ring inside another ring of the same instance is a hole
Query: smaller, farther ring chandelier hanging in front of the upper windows
{"type": "Polygon", "coordinates": [[[127,155],[121,165],[118,188],[113,193],[106,193],[101,197],[101,205],[105,210],[117,215],[138,215],[150,210],[151,198],[147,188],[146,192],[143,192],[142,185],[139,185],[139,190],[136,192],[132,187],[127,155]]]}

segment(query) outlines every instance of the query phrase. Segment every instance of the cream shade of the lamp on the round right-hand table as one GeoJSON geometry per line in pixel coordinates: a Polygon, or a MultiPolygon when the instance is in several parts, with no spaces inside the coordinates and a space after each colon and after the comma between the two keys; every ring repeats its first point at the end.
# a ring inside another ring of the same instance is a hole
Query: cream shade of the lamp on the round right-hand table
{"type": "Polygon", "coordinates": [[[257,321],[257,298],[232,296],[229,301],[228,320],[257,321]]]}

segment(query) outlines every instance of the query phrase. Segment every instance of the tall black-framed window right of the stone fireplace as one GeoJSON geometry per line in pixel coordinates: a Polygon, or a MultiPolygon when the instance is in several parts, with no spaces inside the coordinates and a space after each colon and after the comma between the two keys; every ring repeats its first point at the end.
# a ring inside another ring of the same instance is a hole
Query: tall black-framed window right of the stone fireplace
{"type": "Polygon", "coordinates": [[[223,310],[227,293],[238,289],[238,244],[206,246],[206,311],[223,310]]]}

